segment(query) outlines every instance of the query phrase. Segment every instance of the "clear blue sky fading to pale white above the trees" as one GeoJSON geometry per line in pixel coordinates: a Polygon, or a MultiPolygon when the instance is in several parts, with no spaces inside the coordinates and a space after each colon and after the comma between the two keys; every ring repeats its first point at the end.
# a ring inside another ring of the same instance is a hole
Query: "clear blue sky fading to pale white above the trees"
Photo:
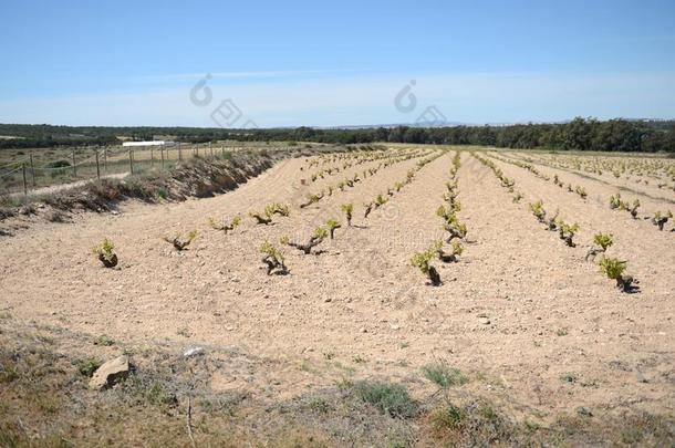
{"type": "Polygon", "coordinates": [[[2,0],[0,17],[0,123],[214,126],[226,100],[261,127],[429,106],[463,123],[675,117],[672,0],[2,0]]]}

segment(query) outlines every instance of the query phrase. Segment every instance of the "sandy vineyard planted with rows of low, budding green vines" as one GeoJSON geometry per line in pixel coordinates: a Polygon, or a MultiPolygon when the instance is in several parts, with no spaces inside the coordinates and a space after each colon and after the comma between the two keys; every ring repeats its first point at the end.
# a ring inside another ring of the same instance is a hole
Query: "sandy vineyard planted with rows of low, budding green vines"
{"type": "MultiPolygon", "coordinates": [[[[112,336],[92,345],[100,358],[233,347],[258,373],[207,383],[263,403],[386,379],[417,403],[384,411],[408,442],[422,436],[399,423],[438,429],[451,396],[467,406],[458,416],[490,403],[520,435],[495,429],[478,445],[558,440],[563,421],[575,421],[572,445],[658,445],[673,433],[631,430],[645,415],[668,420],[675,403],[673,212],[667,158],[326,152],[211,198],[127,201],[70,223],[12,218],[25,228],[0,237],[0,323],[112,336]]],[[[474,437],[446,429],[428,444],[474,437]]]]}

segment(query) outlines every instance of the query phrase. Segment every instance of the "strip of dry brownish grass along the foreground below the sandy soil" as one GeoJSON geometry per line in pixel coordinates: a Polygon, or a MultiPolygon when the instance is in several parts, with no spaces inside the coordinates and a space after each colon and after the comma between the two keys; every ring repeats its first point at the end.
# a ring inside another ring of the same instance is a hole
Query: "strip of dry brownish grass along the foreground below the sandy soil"
{"type": "MultiPolygon", "coordinates": [[[[198,446],[668,446],[672,417],[646,413],[560,415],[550,425],[516,421],[485,398],[414,399],[405,384],[343,382],[290,399],[246,387],[216,390],[218,368],[269,372],[270,363],[209,347],[185,360],[175,347],[115,348],[134,372],[113,389],[86,388],[108,345],[56,327],[0,320],[0,446],[188,446],[187,406],[198,446]],[[92,341],[94,341],[92,343],[92,341]],[[122,436],[123,435],[123,436],[122,436]]],[[[122,344],[123,345],[123,344],[122,344]]],[[[281,367],[281,366],[279,366],[281,367]]],[[[267,375],[266,375],[267,376],[267,375]]]]}

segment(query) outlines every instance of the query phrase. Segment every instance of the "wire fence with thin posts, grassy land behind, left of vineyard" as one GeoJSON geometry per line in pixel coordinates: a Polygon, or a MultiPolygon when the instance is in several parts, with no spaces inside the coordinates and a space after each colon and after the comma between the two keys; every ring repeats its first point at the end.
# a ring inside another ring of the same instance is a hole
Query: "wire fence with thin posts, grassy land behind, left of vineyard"
{"type": "Polygon", "coordinates": [[[288,148],[270,145],[176,143],[162,146],[37,149],[29,155],[13,155],[11,162],[0,164],[0,196],[28,196],[56,188],[59,185],[166,170],[181,160],[226,157],[242,149],[288,148]]]}

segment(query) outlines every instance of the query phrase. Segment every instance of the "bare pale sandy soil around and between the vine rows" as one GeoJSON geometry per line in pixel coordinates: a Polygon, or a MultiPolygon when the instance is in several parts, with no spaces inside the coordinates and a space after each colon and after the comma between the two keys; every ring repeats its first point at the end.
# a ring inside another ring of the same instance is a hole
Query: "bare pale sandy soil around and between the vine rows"
{"type": "MultiPolygon", "coordinates": [[[[617,191],[610,178],[601,183],[540,167],[585,186],[589,198],[582,200],[495,160],[525,196],[513,204],[489,168],[463,152],[458,216],[468,227],[465,252],[457,263],[436,262],[444,283],[433,288],[411,257],[443,236],[435,211],[451,158],[449,152],[424,166],[367,219],[362,204],[405,179],[416,159],[302,209],[308,192],[339,179],[301,185],[315,168],[288,159],[214,198],[128,202],[118,215],[35,222],[0,239],[0,311],[127,344],[236,347],[274,360],[267,376],[252,383],[236,372],[214,373],[214,387],[253,396],[288,398],[343,377],[384,377],[406,383],[420,397],[434,392],[420,367],[442,358],[470,378],[463,390],[487,397],[516,419],[546,425],[579,407],[591,409],[593,418],[625,410],[672,418],[675,233],[610,210],[608,198],[617,191]],[[580,223],[577,248],[536,221],[527,204],[537,199],[580,223]],[[229,235],[208,226],[209,217],[246,216],[273,201],[290,204],[290,217],[271,226],[247,217],[229,235]],[[353,227],[338,229],[320,254],[283,248],[291,273],[266,275],[262,241],[305,240],[329,218],[343,221],[340,205],[350,201],[353,227]],[[191,229],[198,236],[184,252],[163,240],[191,229]],[[629,261],[629,273],[640,280],[637,293],[617,291],[584,262],[598,231],[614,235],[610,253],[629,261]],[[116,244],[120,269],[104,269],[91,253],[104,237],[116,244]]],[[[633,196],[645,213],[663,206],[633,196]]]]}

